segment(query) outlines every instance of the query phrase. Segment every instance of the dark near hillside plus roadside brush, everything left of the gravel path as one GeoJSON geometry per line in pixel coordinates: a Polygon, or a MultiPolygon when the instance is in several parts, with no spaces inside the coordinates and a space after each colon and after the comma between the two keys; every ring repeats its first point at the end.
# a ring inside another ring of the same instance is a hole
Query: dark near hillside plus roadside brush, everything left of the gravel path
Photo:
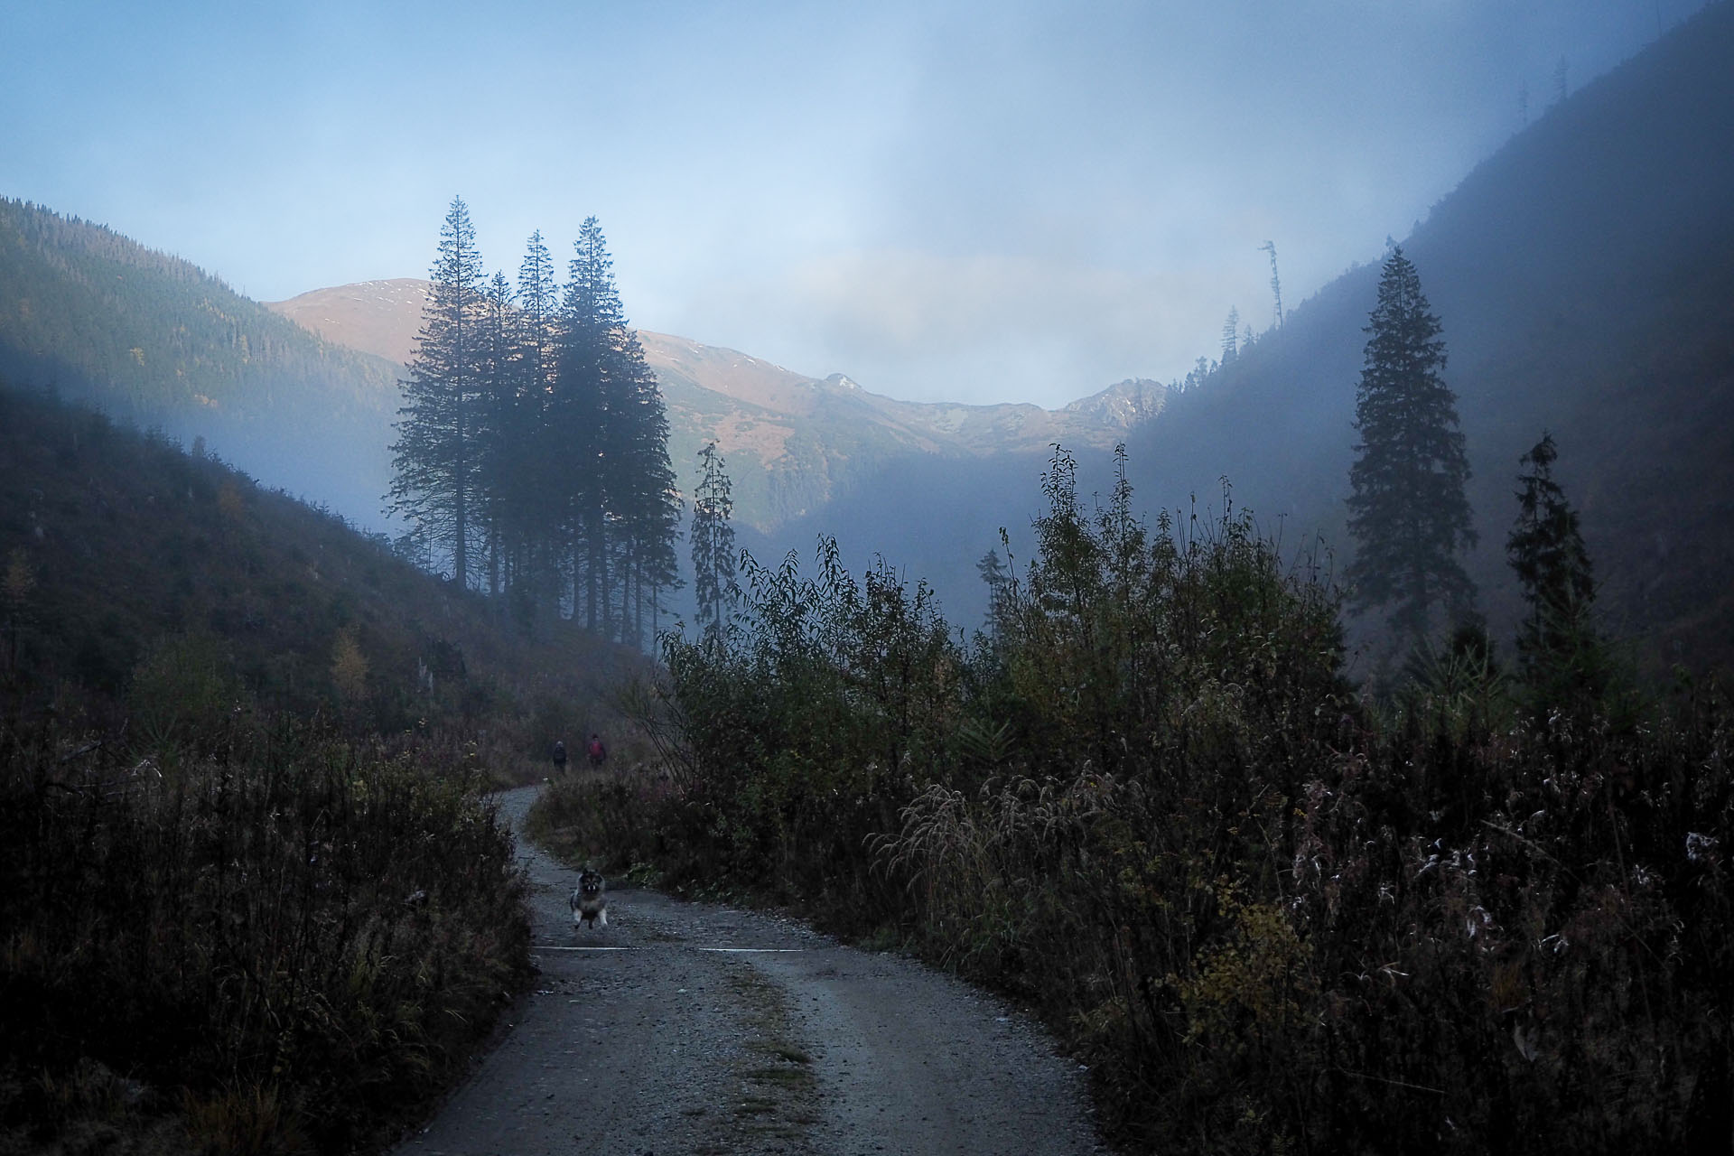
{"type": "Polygon", "coordinates": [[[0,1153],[342,1153],[531,976],[486,792],[636,660],[0,388],[0,1153]]]}

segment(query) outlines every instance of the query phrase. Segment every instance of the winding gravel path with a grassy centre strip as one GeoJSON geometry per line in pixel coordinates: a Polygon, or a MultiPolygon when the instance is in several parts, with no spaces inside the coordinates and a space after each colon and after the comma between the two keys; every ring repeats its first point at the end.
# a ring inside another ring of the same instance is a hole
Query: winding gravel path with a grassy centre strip
{"type": "MultiPolygon", "coordinates": [[[[536,789],[501,796],[522,823],[536,789]]],[[[534,995],[395,1151],[1105,1153],[1082,1073],[992,997],[803,924],[612,889],[574,931],[574,873],[522,842],[534,995]]]]}

